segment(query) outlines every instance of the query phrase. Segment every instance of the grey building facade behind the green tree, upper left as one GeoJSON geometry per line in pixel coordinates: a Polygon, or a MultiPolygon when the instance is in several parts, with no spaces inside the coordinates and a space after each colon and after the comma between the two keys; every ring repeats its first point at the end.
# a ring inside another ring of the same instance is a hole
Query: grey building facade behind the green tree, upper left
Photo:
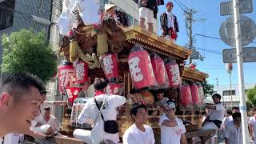
{"type": "MultiPolygon", "coordinates": [[[[50,26],[41,25],[32,20],[32,15],[50,20],[52,0],[3,0],[0,1],[0,38],[21,29],[32,29],[35,32],[46,31],[49,38],[50,26]]],[[[2,56],[2,45],[0,45],[2,56]]],[[[0,60],[2,63],[2,58],[0,60]]]]}

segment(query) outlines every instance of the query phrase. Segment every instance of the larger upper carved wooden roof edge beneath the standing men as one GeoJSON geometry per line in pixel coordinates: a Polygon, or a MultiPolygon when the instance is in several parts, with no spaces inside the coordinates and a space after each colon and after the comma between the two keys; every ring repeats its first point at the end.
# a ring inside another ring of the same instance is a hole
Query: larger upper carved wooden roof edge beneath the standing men
{"type": "Polygon", "coordinates": [[[166,57],[186,60],[192,53],[191,50],[167,41],[165,38],[158,37],[158,35],[149,31],[142,30],[138,26],[123,28],[123,31],[129,42],[139,44],[147,50],[152,50],[166,57]]]}

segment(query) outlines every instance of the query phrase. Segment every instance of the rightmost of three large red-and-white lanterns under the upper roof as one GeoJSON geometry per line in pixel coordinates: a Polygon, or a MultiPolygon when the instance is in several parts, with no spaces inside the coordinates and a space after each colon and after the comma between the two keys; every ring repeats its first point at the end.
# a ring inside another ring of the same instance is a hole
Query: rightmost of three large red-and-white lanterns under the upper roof
{"type": "Polygon", "coordinates": [[[177,89],[181,84],[178,63],[175,59],[168,59],[165,65],[170,82],[170,87],[177,89]]]}

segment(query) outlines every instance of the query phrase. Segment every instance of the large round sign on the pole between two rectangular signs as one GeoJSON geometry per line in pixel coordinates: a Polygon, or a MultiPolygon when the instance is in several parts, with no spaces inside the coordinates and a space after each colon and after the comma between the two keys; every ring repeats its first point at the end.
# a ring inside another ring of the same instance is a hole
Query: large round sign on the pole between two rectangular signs
{"type": "MultiPolygon", "coordinates": [[[[250,42],[254,41],[256,37],[256,25],[254,21],[245,16],[240,16],[240,26],[241,26],[241,37],[242,37],[242,46],[249,45],[250,42]]],[[[230,16],[226,18],[226,21],[222,22],[222,25],[219,29],[220,37],[226,45],[235,47],[235,34],[234,34],[234,17],[230,16]]]]}

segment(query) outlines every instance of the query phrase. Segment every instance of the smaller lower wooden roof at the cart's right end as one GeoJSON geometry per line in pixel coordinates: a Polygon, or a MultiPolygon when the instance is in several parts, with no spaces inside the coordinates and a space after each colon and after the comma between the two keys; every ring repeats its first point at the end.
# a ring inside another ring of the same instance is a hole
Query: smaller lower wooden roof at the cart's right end
{"type": "Polygon", "coordinates": [[[188,67],[182,69],[182,78],[188,81],[204,82],[209,75],[198,70],[191,70],[188,67]]]}

